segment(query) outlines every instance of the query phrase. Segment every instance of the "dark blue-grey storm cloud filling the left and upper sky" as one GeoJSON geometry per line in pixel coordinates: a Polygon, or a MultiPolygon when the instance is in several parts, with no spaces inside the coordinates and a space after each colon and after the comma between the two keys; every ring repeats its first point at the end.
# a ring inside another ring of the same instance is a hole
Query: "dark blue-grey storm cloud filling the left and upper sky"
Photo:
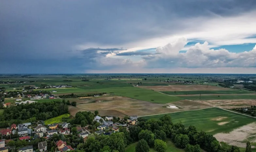
{"type": "MultiPolygon", "coordinates": [[[[52,72],[52,65],[60,70],[62,64],[58,62],[62,61],[73,65],[66,66],[65,71],[83,72],[80,65],[93,65],[89,58],[97,54],[85,51],[83,60],[80,54],[70,51],[77,45],[92,43],[121,46],[184,29],[178,19],[232,16],[255,7],[255,0],[1,1],[0,53],[6,61],[1,61],[5,68],[0,68],[0,73],[29,73],[33,64],[25,64],[24,61],[31,59],[38,68],[48,67],[42,73],[52,72]]],[[[143,54],[146,53],[140,53],[143,54]]],[[[119,55],[129,56],[129,53],[119,55]]],[[[94,67],[100,69],[97,65],[94,67]]]]}

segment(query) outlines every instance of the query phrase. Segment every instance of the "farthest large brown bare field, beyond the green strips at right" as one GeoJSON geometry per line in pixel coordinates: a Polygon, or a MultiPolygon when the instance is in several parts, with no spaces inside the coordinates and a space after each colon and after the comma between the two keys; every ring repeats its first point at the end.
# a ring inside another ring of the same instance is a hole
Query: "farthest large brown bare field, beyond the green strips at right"
{"type": "Polygon", "coordinates": [[[139,88],[151,89],[154,91],[200,91],[200,90],[230,90],[229,88],[201,85],[201,84],[190,84],[190,85],[157,85],[157,86],[137,86],[139,88]]]}

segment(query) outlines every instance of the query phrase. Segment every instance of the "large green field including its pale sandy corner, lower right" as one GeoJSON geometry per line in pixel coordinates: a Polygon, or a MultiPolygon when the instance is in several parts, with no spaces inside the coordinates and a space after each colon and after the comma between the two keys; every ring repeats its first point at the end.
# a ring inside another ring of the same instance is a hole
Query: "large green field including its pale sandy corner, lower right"
{"type": "MultiPolygon", "coordinates": [[[[256,142],[256,119],[219,108],[207,108],[196,111],[182,111],[168,114],[174,123],[182,122],[186,127],[194,125],[214,135],[219,141],[245,147],[246,139],[256,142]]],[[[163,115],[143,117],[159,119],[163,115]]]]}

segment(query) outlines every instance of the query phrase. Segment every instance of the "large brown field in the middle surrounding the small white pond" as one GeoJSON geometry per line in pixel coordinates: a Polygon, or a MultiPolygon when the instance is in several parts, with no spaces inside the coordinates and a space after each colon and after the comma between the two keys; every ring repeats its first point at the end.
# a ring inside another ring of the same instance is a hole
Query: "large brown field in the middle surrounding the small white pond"
{"type": "MultiPolygon", "coordinates": [[[[141,101],[136,99],[131,99],[128,97],[122,96],[111,96],[111,97],[101,97],[97,99],[86,99],[83,102],[77,104],[76,108],[80,108],[80,110],[86,111],[117,111],[124,115],[152,115],[152,114],[161,114],[175,111],[184,111],[184,110],[195,110],[201,108],[209,108],[211,106],[182,100],[178,102],[172,102],[167,104],[155,104],[147,101],[141,101]],[[93,102],[93,103],[92,103],[93,102]],[[170,109],[166,108],[168,105],[175,105],[180,109],[170,109]]],[[[70,113],[75,114],[79,109],[70,109],[70,113]]],[[[115,116],[115,115],[114,115],[115,116]]]]}

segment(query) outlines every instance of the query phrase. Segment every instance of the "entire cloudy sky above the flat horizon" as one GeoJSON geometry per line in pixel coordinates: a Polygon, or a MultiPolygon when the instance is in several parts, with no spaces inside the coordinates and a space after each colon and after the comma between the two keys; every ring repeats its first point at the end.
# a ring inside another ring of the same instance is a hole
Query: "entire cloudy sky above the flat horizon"
{"type": "Polygon", "coordinates": [[[256,73],[255,0],[2,0],[0,73],[256,73]]]}

